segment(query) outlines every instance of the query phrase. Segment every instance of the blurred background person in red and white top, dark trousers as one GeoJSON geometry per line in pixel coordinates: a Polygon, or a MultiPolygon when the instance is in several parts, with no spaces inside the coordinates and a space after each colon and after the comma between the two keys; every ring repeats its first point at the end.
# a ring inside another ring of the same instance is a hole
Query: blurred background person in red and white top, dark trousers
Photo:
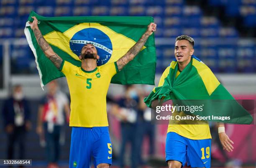
{"type": "Polygon", "coordinates": [[[70,108],[67,96],[59,91],[57,81],[51,81],[47,87],[48,92],[38,109],[37,132],[46,139],[48,168],[58,168],[61,126],[65,123],[64,112],[69,122],[70,108]]]}

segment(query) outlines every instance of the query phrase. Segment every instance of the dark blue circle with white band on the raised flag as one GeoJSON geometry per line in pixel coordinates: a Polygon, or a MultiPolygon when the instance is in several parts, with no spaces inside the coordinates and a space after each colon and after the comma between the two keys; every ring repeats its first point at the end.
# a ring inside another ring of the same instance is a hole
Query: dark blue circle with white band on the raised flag
{"type": "Polygon", "coordinates": [[[85,28],[78,31],[69,41],[70,49],[77,56],[84,44],[92,43],[96,48],[100,59],[97,60],[97,66],[104,65],[112,56],[113,46],[110,38],[97,28],[85,28]]]}

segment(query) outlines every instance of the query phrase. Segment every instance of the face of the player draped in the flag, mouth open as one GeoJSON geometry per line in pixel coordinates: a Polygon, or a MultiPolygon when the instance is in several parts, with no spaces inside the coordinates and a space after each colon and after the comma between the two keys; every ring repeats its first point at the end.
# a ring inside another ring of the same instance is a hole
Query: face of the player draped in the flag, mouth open
{"type": "Polygon", "coordinates": [[[179,63],[189,61],[193,53],[194,49],[187,40],[176,41],[174,55],[179,63]]]}

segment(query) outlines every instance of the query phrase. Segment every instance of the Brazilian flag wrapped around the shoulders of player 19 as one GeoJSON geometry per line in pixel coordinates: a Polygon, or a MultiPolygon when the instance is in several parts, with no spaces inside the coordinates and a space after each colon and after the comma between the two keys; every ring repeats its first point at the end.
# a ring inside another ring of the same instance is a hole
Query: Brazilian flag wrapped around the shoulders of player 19
{"type": "Polygon", "coordinates": [[[159,86],[144,99],[148,107],[151,107],[154,100],[172,100],[172,105],[184,107],[183,112],[187,115],[210,116],[207,120],[214,122],[252,123],[253,118],[248,111],[220,84],[200,59],[193,55],[189,64],[176,77],[177,71],[175,59],[161,76],[159,86]],[[198,108],[200,106],[201,110],[198,108]]]}

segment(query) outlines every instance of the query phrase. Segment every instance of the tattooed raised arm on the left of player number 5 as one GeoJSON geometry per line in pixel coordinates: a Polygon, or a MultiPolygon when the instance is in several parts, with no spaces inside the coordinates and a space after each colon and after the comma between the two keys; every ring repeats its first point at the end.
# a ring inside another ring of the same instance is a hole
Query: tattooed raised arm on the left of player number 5
{"type": "Polygon", "coordinates": [[[32,18],[34,20],[33,20],[32,23],[30,23],[30,27],[33,30],[34,34],[35,34],[36,41],[37,41],[38,45],[40,46],[42,51],[44,51],[44,54],[46,55],[46,57],[51,60],[51,62],[54,64],[54,66],[56,66],[57,69],[59,69],[61,67],[61,63],[62,63],[63,60],[61,59],[60,56],[58,56],[58,54],[56,54],[53,51],[51,46],[44,39],[41,31],[38,28],[38,25],[37,25],[38,20],[36,19],[36,17],[33,16],[32,18]]]}

